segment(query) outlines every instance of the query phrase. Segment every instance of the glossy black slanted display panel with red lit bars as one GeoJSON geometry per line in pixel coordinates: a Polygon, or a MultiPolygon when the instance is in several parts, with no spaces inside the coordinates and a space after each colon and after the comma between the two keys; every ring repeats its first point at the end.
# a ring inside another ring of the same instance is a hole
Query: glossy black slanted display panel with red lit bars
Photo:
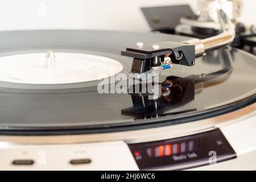
{"type": "Polygon", "coordinates": [[[129,144],[129,148],[141,170],[188,169],[236,158],[236,152],[220,129],[174,139],[129,144]]]}

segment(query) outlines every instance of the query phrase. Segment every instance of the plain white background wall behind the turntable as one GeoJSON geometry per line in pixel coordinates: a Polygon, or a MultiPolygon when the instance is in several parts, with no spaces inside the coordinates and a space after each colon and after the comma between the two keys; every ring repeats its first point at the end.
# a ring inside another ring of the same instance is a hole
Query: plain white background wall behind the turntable
{"type": "MultiPolygon", "coordinates": [[[[1,0],[0,31],[63,28],[149,31],[150,28],[140,7],[189,3],[195,9],[196,2],[196,0],[1,0]]],[[[243,0],[241,20],[244,23],[256,24],[255,7],[255,0],[243,0]]]]}

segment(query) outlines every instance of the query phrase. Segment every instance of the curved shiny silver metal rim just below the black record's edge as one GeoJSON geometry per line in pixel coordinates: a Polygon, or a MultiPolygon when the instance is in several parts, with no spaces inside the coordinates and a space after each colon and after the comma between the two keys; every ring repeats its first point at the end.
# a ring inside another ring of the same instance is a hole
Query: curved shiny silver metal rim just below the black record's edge
{"type": "Polygon", "coordinates": [[[131,130],[114,133],[84,134],[84,135],[56,135],[56,136],[0,136],[0,142],[14,144],[72,144],[93,143],[125,140],[127,143],[138,143],[152,140],[184,137],[203,131],[212,130],[214,127],[229,125],[242,119],[256,115],[256,103],[232,113],[217,117],[202,119],[179,125],[157,127],[152,129],[131,130]]]}

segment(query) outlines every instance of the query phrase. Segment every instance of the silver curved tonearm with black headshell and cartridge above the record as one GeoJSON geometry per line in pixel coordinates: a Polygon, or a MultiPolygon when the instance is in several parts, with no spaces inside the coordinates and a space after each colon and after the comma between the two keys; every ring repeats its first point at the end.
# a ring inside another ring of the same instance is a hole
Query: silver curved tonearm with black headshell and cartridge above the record
{"type": "Polygon", "coordinates": [[[136,47],[126,48],[121,55],[134,57],[131,73],[141,78],[141,73],[151,73],[154,77],[162,72],[164,57],[170,57],[172,63],[186,66],[195,65],[195,58],[203,56],[204,53],[225,47],[233,42],[235,31],[228,16],[223,10],[218,10],[218,19],[221,24],[222,33],[208,39],[191,39],[182,43],[159,42],[150,45],[138,43],[136,47]]]}

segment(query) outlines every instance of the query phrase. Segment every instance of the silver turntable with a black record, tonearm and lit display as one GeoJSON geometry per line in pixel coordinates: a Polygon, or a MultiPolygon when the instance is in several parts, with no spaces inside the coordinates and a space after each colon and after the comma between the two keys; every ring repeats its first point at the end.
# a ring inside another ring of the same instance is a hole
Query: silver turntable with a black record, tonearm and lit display
{"type": "Polygon", "coordinates": [[[223,26],[1,32],[0,169],[256,169],[256,57],[223,26]]]}

